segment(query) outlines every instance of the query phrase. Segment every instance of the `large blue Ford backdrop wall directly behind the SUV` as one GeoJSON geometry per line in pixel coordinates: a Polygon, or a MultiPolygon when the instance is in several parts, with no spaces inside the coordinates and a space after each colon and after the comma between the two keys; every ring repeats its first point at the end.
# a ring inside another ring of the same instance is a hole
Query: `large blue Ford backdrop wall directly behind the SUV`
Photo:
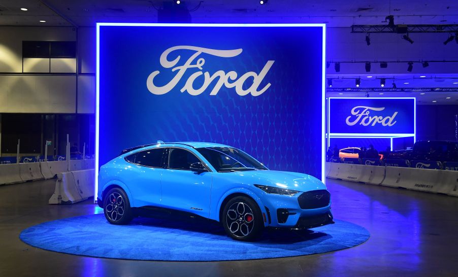
{"type": "Polygon", "coordinates": [[[198,141],[322,179],[323,34],[322,24],[97,24],[96,164],[198,141]]]}

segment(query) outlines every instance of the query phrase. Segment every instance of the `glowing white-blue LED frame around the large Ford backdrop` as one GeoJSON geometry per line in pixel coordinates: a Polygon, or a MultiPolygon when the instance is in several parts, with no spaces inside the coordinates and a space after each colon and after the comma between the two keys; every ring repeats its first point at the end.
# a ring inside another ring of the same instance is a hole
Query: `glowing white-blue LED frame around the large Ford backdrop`
{"type": "Polygon", "coordinates": [[[321,27],[322,28],[322,66],[321,66],[321,181],[325,182],[324,163],[326,158],[326,129],[325,129],[325,24],[200,24],[200,23],[97,23],[96,24],[96,97],[95,97],[95,193],[94,201],[98,191],[99,177],[99,108],[100,108],[100,27],[101,26],[162,26],[162,27],[321,27]]]}

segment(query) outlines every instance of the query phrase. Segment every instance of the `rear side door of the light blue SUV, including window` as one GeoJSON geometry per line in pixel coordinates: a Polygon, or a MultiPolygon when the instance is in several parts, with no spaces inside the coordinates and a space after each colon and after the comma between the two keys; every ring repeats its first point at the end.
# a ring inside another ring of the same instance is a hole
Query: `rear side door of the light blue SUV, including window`
{"type": "Polygon", "coordinates": [[[153,148],[128,156],[132,162],[132,173],[128,180],[129,190],[136,201],[136,206],[160,204],[160,180],[163,168],[165,148],[153,148]]]}

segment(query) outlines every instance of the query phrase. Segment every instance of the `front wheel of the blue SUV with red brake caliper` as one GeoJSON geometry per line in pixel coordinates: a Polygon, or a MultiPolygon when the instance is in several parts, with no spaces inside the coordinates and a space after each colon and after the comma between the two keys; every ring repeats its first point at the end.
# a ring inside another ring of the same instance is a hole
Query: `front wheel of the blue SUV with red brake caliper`
{"type": "Polygon", "coordinates": [[[236,196],[227,201],[221,215],[221,223],[227,235],[240,241],[259,238],[264,229],[259,206],[246,196],[236,196]]]}

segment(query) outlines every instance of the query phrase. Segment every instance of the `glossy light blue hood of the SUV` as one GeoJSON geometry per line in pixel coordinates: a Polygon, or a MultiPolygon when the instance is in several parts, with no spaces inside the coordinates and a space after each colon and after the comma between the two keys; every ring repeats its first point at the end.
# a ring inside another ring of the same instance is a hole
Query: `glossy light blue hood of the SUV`
{"type": "Polygon", "coordinates": [[[243,178],[243,183],[246,183],[249,179],[252,185],[265,185],[283,189],[297,190],[302,192],[326,189],[326,186],[320,180],[316,179],[313,176],[298,172],[276,170],[250,170],[232,172],[230,174],[234,174],[240,178],[243,178]]]}

